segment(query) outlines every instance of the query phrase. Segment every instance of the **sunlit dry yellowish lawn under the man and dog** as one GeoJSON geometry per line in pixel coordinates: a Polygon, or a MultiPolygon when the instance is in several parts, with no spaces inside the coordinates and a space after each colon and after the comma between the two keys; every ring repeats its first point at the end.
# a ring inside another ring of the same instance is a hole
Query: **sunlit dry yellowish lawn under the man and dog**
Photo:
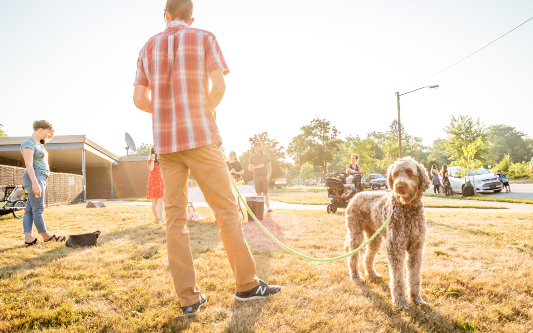
{"type": "MultiPolygon", "coordinates": [[[[294,257],[255,223],[243,228],[257,274],[283,289],[270,299],[237,303],[213,214],[198,212],[205,219],[189,229],[208,304],[187,319],[177,316],[164,226],[152,223],[149,206],[46,209],[53,233],[102,231],[98,247],[83,249],[23,248],[22,221],[0,218],[0,331],[533,331],[533,221],[526,214],[427,212],[422,296],[429,306],[401,311],[391,303],[383,246],[376,259],[383,278],[358,285],[348,278],[346,259],[294,257]]],[[[341,213],[276,210],[264,224],[302,253],[343,252],[341,213]]]]}

